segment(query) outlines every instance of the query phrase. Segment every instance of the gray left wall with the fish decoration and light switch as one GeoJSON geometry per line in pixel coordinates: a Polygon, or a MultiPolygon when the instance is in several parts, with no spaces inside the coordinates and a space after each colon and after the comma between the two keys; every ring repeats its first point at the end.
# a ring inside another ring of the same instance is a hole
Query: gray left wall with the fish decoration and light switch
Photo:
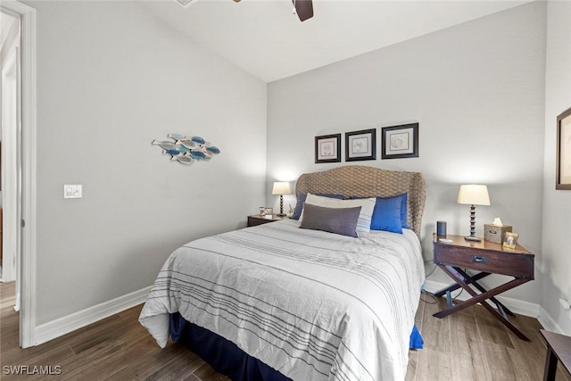
{"type": "Polygon", "coordinates": [[[37,324],[153,284],[179,245],[265,201],[266,84],[136,2],[37,9],[37,324]],[[184,166],[153,139],[201,136],[184,166]],[[63,200],[64,184],[84,196],[63,200]]]}

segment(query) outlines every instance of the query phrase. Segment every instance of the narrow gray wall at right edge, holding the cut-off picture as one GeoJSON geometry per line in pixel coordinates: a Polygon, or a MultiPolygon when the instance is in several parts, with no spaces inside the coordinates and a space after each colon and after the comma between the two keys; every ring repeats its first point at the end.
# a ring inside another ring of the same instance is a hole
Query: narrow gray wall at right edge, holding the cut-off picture
{"type": "Polygon", "coordinates": [[[545,84],[545,167],[543,181],[542,307],[571,335],[571,191],[555,190],[557,116],[571,107],[571,3],[548,2],[545,84]]]}

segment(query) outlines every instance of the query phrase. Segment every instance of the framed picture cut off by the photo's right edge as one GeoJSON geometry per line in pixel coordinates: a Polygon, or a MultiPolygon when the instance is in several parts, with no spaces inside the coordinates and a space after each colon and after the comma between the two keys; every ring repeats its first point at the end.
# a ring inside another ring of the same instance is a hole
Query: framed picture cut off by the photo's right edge
{"type": "Polygon", "coordinates": [[[557,117],[555,189],[571,190],[571,109],[557,117]]]}

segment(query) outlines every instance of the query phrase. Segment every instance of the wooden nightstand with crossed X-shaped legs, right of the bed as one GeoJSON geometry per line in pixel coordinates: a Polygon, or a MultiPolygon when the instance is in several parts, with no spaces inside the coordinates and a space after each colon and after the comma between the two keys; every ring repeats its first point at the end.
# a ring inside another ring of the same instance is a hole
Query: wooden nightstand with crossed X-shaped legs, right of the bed
{"type": "Polygon", "coordinates": [[[477,302],[481,302],[486,310],[490,311],[506,327],[509,327],[517,337],[529,341],[527,336],[509,322],[506,315],[514,316],[514,313],[501,304],[495,296],[534,280],[534,254],[528,252],[519,244],[517,244],[515,249],[509,250],[505,249],[501,244],[494,244],[484,240],[481,242],[466,241],[463,236],[446,236],[446,238],[451,240],[451,242],[444,243],[438,239],[434,240],[434,263],[451,277],[456,282],[456,285],[446,287],[434,294],[434,296],[443,296],[445,294],[448,308],[435,313],[433,316],[444,318],[451,313],[464,310],[477,302]],[[479,272],[476,275],[468,275],[466,269],[479,272]],[[501,286],[486,290],[484,286],[478,283],[478,280],[490,274],[507,275],[513,277],[513,279],[501,286]],[[468,291],[472,298],[452,306],[450,293],[460,287],[468,291]],[[486,300],[493,302],[497,310],[486,300]]]}

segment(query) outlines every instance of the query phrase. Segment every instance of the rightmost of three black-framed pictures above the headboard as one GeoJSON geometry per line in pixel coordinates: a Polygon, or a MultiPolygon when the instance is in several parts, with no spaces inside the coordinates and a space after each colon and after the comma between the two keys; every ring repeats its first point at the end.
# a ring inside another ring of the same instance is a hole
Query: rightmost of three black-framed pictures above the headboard
{"type": "Polygon", "coordinates": [[[383,159],[418,157],[418,123],[382,128],[383,159]]]}

